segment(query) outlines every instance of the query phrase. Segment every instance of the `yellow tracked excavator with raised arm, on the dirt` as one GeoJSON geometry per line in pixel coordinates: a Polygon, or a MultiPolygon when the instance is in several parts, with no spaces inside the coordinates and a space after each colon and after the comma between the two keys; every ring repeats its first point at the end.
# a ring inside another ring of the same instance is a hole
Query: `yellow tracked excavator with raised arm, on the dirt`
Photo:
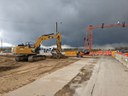
{"type": "Polygon", "coordinates": [[[45,40],[50,40],[50,39],[56,39],[56,45],[57,48],[54,48],[52,50],[52,56],[54,58],[62,58],[64,55],[61,54],[61,34],[60,32],[57,32],[56,34],[51,33],[51,34],[45,34],[40,36],[36,42],[32,45],[30,43],[26,44],[19,44],[18,46],[13,48],[13,53],[15,55],[15,60],[16,61],[37,61],[37,60],[44,60],[46,59],[45,55],[40,55],[40,45],[42,44],[43,41],[45,40]]]}

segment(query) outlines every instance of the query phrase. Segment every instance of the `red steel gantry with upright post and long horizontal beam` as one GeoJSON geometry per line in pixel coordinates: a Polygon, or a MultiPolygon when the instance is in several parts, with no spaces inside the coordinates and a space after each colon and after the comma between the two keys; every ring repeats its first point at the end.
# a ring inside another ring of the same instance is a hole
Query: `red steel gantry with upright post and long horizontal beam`
{"type": "Polygon", "coordinates": [[[123,22],[122,24],[118,23],[117,24],[108,24],[105,25],[104,23],[102,23],[101,25],[89,25],[86,28],[86,37],[85,37],[85,49],[91,51],[92,49],[92,40],[93,40],[93,30],[97,29],[97,28],[112,28],[112,27],[128,27],[128,24],[125,24],[125,22],[123,22]]]}

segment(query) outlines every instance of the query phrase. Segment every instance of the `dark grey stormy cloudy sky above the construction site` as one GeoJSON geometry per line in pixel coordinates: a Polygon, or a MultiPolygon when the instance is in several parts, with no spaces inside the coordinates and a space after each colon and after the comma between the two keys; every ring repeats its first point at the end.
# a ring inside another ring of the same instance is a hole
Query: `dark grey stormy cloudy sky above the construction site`
{"type": "MultiPolygon", "coordinates": [[[[55,32],[55,22],[62,22],[62,43],[83,46],[87,25],[128,23],[127,6],[128,0],[0,0],[0,39],[11,44],[35,42],[55,32]]],[[[128,28],[97,29],[93,37],[94,45],[127,43],[128,28]]]]}

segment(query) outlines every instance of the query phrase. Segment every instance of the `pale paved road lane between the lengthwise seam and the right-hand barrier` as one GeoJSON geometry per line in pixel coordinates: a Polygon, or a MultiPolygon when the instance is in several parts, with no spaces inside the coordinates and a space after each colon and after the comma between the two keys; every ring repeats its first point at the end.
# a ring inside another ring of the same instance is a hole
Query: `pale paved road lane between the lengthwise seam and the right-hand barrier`
{"type": "Polygon", "coordinates": [[[82,95],[128,96],[128,69],[112,57],[101,58],[90,94],[82,95]]]}

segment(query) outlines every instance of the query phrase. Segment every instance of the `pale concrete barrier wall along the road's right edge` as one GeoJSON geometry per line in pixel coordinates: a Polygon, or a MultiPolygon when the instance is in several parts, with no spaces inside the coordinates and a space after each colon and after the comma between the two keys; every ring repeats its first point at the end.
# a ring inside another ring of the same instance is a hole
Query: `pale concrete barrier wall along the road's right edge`
{"type": "Polygon", "coordinates": [[[121,62],[124,66],[128,68],[128,57],[122,54],[115,54],[115,59],[117,59],[119,62],[121,62]]]}

